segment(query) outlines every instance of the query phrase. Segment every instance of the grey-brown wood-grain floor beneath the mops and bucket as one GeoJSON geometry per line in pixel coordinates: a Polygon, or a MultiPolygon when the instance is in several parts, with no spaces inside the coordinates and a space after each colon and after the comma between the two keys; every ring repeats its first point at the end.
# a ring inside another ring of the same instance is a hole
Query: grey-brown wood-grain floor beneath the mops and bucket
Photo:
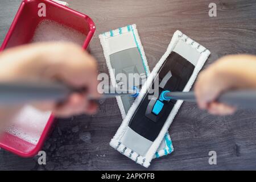
{"type": "MultiPolygon", "coordinates": [[[[211,51],[205,67],[223,55],[256,54],[255,0],[67,2],[72,9],[89,15],[96,23],[97,32],[90,50],[98,60],[100,72],[107,73],[108,70],[98,34],[132,23],[137,24],[150,69],[166,51],[176,30],[211,51]],[[217,17],[208,15],[210,2],[217,4],[217,17]]],[[[0,1],[1,42],[19,3],[20,0],[0,1]]],[[[43,147],[47,152],[46,166],[39,166],[37,157],[23,159],[0,150],[0,169],[145,169],[109,146],[121,122],[117,102],[114,99],[105,101],[98,114],[92,117],[82,115],[57,121],[43,147]]],[[[185,103],[176,115],[170,133],[175,151],[153,160],[148,169],[256,169],[255,111],[213,117],[195,104],[185,103]],[[212,150],[217,152],[217,165],[208,163],[208,152],[212,150]]]]}

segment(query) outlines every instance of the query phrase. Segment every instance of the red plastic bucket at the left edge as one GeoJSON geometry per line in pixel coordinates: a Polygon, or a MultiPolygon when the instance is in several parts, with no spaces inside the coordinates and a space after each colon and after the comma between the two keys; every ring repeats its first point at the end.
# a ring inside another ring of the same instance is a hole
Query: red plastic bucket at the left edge
{"type": "MultiPolygon", "coordinates": [[[[7,32],[0,51],[3,51],[6,48],[30,43],[34,36],[36,27],[40,22],[46,19],[71,27],[86,35],[82,48],[88,48],[90,40],[95,32],[95,25],[89,16],[69,9],[66,6],[60,5],[51,0],[24,0],[19,7],[18,13],[15,16],[9,31],[7,32]],[[46,17],[39,17],[39,3],[44,3],[46,5],[46,17]]],[[[4,133],[0,139],[0,147],[19,156],[35,156],[42,148],[43,142],[51,130],[53,120],[54,117],[51,115],[37,144],[32,144],[9,133],[4,133]]]]}

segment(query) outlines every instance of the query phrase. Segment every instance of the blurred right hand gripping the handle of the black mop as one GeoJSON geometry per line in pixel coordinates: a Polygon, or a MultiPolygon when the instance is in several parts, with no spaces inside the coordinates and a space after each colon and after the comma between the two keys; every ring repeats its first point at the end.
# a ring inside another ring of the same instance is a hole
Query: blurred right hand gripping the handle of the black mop
{"type": "Polygon", "coordinates": [[[197,104],[210,114],[233,114],[235,107],[216,102],[230,89],[256,88],[256,56],[224,56],[201,72],[195,84],[197,104]]]}

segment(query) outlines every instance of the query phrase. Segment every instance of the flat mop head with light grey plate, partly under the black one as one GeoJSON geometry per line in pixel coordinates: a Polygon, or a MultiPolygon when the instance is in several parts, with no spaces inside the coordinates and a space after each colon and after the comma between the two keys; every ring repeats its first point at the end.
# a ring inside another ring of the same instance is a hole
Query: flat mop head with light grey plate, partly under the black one
{"type": "MultiPolygon", "coordinates": [[[[113,86],[123,86],[124,82],[117,79],[120,73],[125,74],[127,78],[130,73],[139,75],[141,80],[148,77],[150,69],[135,24],[105,32],[99,37],[113,86]]],[[[140,90],[142,85],[142,82],[134,84],[129,89],[140,90]]],[[[131,105],[133,105],[135,97],[117,96],[116,98],[124,119],[131,105]]],[[[174,147],[170,134],[167,132],[154,158],[171,154],[172,151],[174,151],[174,147]]]]}

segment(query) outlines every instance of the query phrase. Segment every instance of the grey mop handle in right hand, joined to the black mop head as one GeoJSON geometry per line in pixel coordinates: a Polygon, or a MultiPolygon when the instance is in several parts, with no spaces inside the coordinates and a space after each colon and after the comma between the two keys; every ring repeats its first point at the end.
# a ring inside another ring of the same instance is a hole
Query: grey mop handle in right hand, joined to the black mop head
{"type": "MultiPolygon", "coordinates": [[[[194,92],[165,92],[165,100],[196,102],[194,92]]],[[[217,100],[223,104],[246,109],[256,109],[256,90],[233,90],[222,93],[217,100]]]]}

